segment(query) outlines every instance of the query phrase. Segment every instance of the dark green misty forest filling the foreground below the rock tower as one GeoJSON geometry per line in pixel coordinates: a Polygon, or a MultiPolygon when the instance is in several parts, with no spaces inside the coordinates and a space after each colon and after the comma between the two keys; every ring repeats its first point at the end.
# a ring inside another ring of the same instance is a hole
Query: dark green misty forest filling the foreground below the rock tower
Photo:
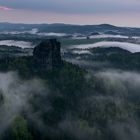
{"type": "MultiPolygon", "coordinates": [[[[2,132],[2,140],[123,140],[128,136],[136,140],[138,86],[117,78],[106,80],[103,74],[89,74],[67,62],[61,69],[36,75],[31,64],[31,57],[0,61],[1,72],[17,71],[21,84],[36,78],[44,87],[27,94],[26,105],[2,132]]],[[[4,91],[0,94],[2,108],[6,97],[4,91]]]]}

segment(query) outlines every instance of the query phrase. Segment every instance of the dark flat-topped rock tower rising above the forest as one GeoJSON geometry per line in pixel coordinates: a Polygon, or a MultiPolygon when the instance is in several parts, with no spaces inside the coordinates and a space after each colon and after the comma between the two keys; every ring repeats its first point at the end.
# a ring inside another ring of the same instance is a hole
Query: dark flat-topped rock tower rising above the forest
{"type": "Polygon", "coordinates": [[[60,42],[56,39],[42,41],[33,51],[34,72],[46,72],[62,66],[60,42]]]}

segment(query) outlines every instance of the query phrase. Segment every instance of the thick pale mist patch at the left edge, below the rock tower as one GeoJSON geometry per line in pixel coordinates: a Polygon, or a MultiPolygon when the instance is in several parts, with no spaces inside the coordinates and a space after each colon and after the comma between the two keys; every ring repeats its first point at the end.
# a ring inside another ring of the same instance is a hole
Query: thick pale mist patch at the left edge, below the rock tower
{"type": "Polygon", "coordinates": [[[44,91],[41,80],[21,80],[15,72],[0,73],[0,135],[24,110],[30,110],[29,100],[44,91]]]}

